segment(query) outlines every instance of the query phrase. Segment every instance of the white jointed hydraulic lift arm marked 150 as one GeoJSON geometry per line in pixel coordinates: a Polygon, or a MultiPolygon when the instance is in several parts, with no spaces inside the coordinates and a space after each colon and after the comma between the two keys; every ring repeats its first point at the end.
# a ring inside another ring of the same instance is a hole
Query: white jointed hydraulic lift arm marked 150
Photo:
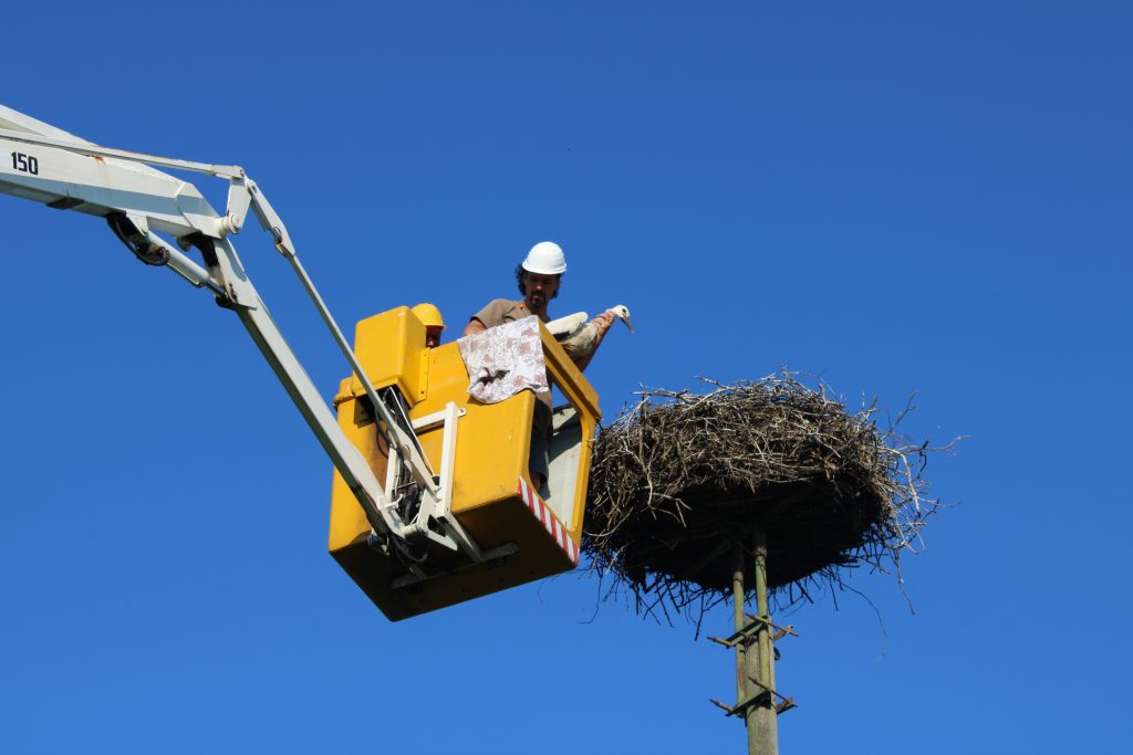
{"type": "MultiPolygon", "coordinates": [[[[365,511],[375,548],[395,556],[406,540],[428,539],[483,560],[485,556],[452,517],[434,516],[443,512],[444,488],[451,492],[452,481],[429,467],[397,388],[377,391],[366,377],[300,264],[287,228],[244,169],[101,147],[0,105],[0,192],[104,217],[143,263],[168,267],[236,312],[365,511]],[[228,181],[224,214],[191,183],[155,168],[228,181]],[[230,237],[244,228],[249,211],[272,234],[365,387],[378,431],[391,449],[390,462],[397,464],[389,489],[339,428],[240,263],[230,237]],[[194,250],[199,263],[190,256],[194,250]],[[407,498],[412,505],[404,505],[407,498]]],[[[421,576],[415,564],[408,570],[421,576]]]]}

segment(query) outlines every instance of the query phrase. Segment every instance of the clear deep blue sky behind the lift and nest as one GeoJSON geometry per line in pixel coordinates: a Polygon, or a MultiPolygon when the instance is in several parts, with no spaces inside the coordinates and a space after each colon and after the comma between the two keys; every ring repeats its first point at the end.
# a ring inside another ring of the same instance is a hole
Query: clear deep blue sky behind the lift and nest
{"type": "MultiPolygon", "coordinates": [[[[607,418],[781,366],[918,392],[910,435],[970,436],[927,471],[959,505],[905,560],[915,614],[859,574],[870,602],[783,617],[783,752],[1118,748],[1128,3],[5,16],[0,102],[244,165],[348,326],[432,300],[459,327],[553,239],[552,312],[638,326],[588,370],[607,418]]],[[[387,623],[326,555],[330,464],[236,319],[95,218],[0,197],[0,749],[742,752],[707,702],[727,653],[586,574],[387,623]]],[[[237,246],[330,397],[301,290],[258,230],[237,246]]]]}

